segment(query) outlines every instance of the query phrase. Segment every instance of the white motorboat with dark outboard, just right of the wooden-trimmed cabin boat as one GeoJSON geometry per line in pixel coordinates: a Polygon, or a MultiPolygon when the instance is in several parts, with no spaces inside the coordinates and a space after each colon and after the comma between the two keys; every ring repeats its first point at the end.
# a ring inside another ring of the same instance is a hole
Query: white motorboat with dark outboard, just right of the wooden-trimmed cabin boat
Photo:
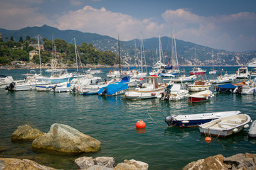
{"type": "Polygon", "coordinates": [[[186,97],[188,97],[188,90],[181,89],[181,84],[174,84],[170,90],[157,96],[161,101],[180,101],[186,97]]]}

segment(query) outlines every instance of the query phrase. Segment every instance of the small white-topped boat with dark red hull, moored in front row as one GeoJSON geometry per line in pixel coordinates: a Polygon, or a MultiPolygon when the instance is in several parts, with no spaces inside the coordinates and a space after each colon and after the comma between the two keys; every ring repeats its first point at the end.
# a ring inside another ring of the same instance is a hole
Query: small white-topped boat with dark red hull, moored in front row
{"type": "Polygon", "coordinates": [[[200,91],[196,94],[191,94],[188,96],[189,102],[200,102],[200,101],[208,101],[214,94],[210,90],[200,91]]]}

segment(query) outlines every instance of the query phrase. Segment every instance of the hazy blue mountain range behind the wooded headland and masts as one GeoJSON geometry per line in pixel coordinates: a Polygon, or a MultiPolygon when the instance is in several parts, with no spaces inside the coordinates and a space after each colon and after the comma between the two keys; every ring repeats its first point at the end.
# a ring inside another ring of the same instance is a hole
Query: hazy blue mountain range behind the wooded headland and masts
{"type": "MultiPolygon", "coordinates": [[[[82,42],[92,44],[98,50],[106,51],[111,50],[117,53],[117,39],[111,38],[107,35],[99,35],[96,33],[82,33],[78,30],[59,30],[50,26],[43,25],[41,27],[26,27],[20,30],[6,30],[0,28],[2,38],[14,37],[14,40],[18,41],[20,37],[23,40],[26,36],[36,38],[37,35],[41,35],[42,38],[51,40],[58,38],[65,40],[68,43],[74,43],[74,38],[78,45],[82,42]]],[[[122,62],[124,64],[135,64],[135,50],[134,41],[137,44],[137,50],[139,51],[140,40],[120,41],[120,50],[122,56],[122,62]]],[[[146,55],[146,63],[151,65],[157,61],[156,49],[159,49],[159,38],[144,39],[144,51],[146,55]]],[[[161,37],[161,45],[164,50],[165,62],[169,61],[169,53],[171,49],[171,38],[161,37]]],[[[176,48],[178,52],[178,62],[181,65],[201,65],[211,66],[212,58],[211,52],[213,50],[213,60],[215,65],[245,65],[247,62],[256,57],[256,51],[250,52],[229,52],[226,50],[216,50],[210,47],[202,45],[196,45],[193,42],[186,42],[183,40],[176,40],[176,48]],[[196,49],[196,57],[195,57],[196,49]]]]}

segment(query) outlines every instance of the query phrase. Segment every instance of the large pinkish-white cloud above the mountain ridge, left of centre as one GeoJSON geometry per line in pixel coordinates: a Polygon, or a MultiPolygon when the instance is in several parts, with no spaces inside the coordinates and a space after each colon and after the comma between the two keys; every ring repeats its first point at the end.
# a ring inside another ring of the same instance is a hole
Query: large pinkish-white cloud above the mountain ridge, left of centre
{"type": "Polygon", "coordinates": [[[146,37],[152,37],[159,33],[161,26],[153,23],[150,19],[140,21],[132,16],[123,13],[113,13],[106,8],[92,8],[85,6],[78,11],[69,11],[63,16],[57,18],[60,29],[74,29],[82,32],[99,33],[101,35],[110,35],[116,38],[120,36],[121,40],[132,40],[138,38],[139,31],[146,30],[146,37]]]}

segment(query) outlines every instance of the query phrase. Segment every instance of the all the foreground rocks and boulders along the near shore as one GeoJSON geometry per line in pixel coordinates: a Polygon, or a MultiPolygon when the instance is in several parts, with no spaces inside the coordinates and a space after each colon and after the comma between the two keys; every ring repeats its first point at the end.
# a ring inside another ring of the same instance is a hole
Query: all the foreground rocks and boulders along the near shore
{"type": "MultiPolygon", "coordinates": [[[[11,135],[12,141],[31,141],[32,147],[37,149],[52,149],[58,152],[97,152],[101,142],[85,135],[78,130],[63,124],[54,123],[48,133],[33,129],[29,125],[18,126],[17,130],[11,135]]],[[[149,164],[134,159],[115,164],[113,157],[78,157],[74,164],[78,169],[87,170],[147,170],[149,164]]],[[[171,167],[171,165],[170,165],[171,167]]],[[[28,159],[0,158],[0,169],[54,169],[43,166],[28,159]]],[[[199,159],[196,162],[187,164],[183,170],[254,170],[256,169],[256,154],[235,154],[231,157],[223,157],[222,154],[206,159],[199,159]]]]}

